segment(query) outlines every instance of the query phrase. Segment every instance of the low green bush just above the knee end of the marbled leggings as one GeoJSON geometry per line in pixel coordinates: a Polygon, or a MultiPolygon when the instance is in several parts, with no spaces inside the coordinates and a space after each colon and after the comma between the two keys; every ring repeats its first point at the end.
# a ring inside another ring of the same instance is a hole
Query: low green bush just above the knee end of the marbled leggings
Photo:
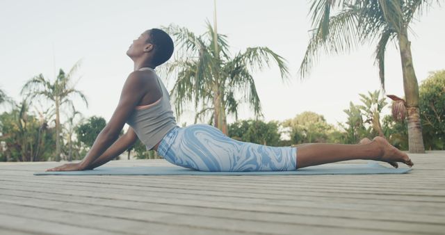
{"type": "Polygon", "coordinates": [[[243,142],[280,146],[279,127],[276,121],[242,120],[229,124],[228,136],[243,142]]]}

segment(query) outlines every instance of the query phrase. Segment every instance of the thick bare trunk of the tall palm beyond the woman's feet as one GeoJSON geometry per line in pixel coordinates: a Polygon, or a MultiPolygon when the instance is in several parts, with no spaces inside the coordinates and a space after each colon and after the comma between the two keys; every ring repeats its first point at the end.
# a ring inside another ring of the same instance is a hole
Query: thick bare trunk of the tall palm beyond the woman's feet
{"type": "Polygon", "coordinates": [[[407,29],[398,35],[398,45],[401,49],[403,90],[407,106],[408,145],[411,153],[425,153],[419,112],[419,84],[412,64],[411,42],[408,40],[407,29]]]}

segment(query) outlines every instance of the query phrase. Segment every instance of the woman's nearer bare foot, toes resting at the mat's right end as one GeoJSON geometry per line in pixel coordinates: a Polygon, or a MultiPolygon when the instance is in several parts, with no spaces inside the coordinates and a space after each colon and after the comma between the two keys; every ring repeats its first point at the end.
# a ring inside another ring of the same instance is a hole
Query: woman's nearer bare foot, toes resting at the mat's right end
{"type": "Polygon", "coordinates": [[[407,154],[401,152],[396,147],[389,144],[388,140],[386,140],[385,138],[377,136],[373,138],[372,142],[377,143],[378,147],[380,147],[381,149],[380,159],[378,159],[379,161],[385,161],[394,166],[394,168],[398,168],[397,162],[405,163],[410,167],[414,165],[407,154]]]}

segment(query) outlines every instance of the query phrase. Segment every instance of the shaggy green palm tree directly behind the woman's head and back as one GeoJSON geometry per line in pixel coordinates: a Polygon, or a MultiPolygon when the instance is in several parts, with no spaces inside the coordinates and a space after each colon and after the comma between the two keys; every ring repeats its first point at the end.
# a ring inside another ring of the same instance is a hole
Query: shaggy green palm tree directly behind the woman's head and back
{"type": "Polygon", "coordinates": [[[176,39],[180,51],[180,58],[166,68],[168,76],[177,75],[171,92],[177,115],[192,103],[201,108],[195,122],[197,117],[211,112],[213,124],[225,134],[227,114],[237,115],[241,102],[247,102],[256,117],[262,115],[252,70],[261,70],[273,61],[280,68],[282,79],[289,77],[284,58],[268,47],[249,47],[231,57],[227,36],[213,31],[209,22],[202,35],[175,25],[165,31],[176,39]]]}

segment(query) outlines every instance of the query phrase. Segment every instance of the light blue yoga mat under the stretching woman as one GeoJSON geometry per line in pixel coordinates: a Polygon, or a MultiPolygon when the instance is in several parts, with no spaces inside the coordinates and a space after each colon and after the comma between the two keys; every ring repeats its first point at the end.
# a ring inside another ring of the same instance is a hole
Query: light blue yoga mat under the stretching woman
{"type": "Polygon", "coordinates": [[[411,168],[387,168],[375,161],[366,164],[342,163],[335,165],[314,165],[293,171],[262,172],[204,172],[177,165],[172,166],[101,166],[95,170],[36,172],[34,175],[366,175],[366,174],[403,174],[411,168]]]}

